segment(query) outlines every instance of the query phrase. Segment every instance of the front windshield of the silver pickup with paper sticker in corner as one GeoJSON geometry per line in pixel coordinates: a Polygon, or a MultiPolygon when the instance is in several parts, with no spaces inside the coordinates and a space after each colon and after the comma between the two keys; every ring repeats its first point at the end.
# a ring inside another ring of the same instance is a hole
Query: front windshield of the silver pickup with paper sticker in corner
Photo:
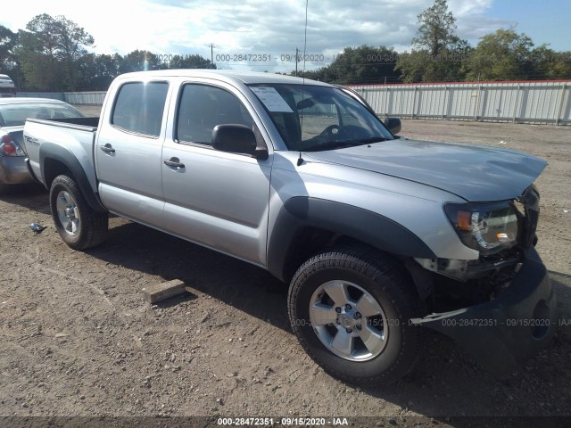
{"type": "Polygon", "coordinates": [[[289,150],[315,152],[393,139],[376,116],[330,86],[250,86],[289,150]]]}

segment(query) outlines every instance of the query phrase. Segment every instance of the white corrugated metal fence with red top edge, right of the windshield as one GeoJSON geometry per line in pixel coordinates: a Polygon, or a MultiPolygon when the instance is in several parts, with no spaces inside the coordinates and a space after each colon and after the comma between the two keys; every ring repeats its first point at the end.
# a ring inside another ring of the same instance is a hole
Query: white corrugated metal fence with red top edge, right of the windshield
{"type": "Polygon", "coordinates": [[[352,88],[380,116],[571,125],[571,80],[352,88]]]}

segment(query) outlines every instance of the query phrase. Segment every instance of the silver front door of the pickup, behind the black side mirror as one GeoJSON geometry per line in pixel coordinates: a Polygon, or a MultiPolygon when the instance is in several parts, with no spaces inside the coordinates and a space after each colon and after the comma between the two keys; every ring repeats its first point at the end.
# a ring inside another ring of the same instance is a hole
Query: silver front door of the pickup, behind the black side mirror
{"type": "Polygon", "coordinates": [[[180,87],[173,116],[174,127],[162,151],[165,227],[195,243],[265,265],[273,154],[252,106],[233,86],[197,80],[180,87]],[[269,148],[269,159],[213,149],[212,128],[219,124],[252,128],[258,146],[269,148]]]}

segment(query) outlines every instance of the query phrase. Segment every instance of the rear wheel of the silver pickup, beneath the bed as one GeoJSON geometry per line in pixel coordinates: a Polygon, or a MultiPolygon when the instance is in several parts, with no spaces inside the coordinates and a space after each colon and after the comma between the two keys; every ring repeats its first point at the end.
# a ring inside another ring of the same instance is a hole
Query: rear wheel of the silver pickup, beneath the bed
{"type": "Polygon", "coordinates": [[[86,250],[105,240],[109,216],[92,210],[70,177],[55,177],[50,189],[55,228],[74,250],[86,250]]]}

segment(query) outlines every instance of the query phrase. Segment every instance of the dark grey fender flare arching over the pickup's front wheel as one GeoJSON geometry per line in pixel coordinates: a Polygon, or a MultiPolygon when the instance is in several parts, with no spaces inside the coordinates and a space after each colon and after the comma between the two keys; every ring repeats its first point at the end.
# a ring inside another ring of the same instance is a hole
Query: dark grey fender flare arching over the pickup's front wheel
{"type": "Polygon", "coordinates": [[[436,257],[417,235],[391,218],[342,202],[296,196],[284,203],[268,237],[268,270],[282,281],[288,279],[292,243],[306,227],[348,236],[399,256],[436,257]]]}

